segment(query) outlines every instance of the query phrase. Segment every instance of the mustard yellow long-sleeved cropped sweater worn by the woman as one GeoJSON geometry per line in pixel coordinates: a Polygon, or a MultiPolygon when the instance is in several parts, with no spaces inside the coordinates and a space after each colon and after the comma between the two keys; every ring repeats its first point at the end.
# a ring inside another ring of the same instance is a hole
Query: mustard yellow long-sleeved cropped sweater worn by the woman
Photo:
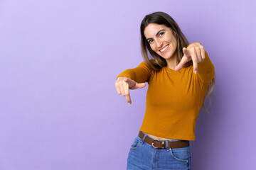
{"type": "Polygon", "coordinates": [[[213,63],[206,52],[206,59],[198,63],[197,74],[193,73],[193,65],[177,72],[168,67],[154,72],[142,62],[118,77],[149,84],[146,111],[139,130],[158,137],[195,140],[196,119],[214,74],[213,63]]]}

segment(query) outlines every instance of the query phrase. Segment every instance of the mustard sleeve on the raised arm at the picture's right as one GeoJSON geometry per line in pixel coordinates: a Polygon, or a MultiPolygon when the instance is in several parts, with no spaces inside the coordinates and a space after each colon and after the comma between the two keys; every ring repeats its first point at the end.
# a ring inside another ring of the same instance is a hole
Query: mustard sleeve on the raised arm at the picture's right
{"type": "Polygon", "coordinates": [[[215,74],[215,68],[212,62],[210,62],[210,57],[206,53],[206,58],[203,62],[198,63],[198,78],[203,84],[209,84],[213,79],[215,74]]]}

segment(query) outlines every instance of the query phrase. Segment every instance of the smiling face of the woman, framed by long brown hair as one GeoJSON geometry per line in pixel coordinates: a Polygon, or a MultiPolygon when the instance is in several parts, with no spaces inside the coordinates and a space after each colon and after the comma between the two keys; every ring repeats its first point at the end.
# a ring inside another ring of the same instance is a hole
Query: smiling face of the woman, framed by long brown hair
{"type": "Polygon", "coordinates": [[[149,23],[144,29],[144,35],[156,54],[164,59],[175,55],[177,40],[170,28],[157,23],[149,23]]]}

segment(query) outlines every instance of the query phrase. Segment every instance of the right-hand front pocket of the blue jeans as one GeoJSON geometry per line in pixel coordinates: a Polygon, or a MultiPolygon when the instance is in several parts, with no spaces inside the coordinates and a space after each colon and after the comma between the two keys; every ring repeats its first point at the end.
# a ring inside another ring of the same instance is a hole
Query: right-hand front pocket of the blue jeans
{"type": "Polygon", "coordinates": [[[179,162],[188,162],[188,147],[170,148],[170,154],[179,162]]]}

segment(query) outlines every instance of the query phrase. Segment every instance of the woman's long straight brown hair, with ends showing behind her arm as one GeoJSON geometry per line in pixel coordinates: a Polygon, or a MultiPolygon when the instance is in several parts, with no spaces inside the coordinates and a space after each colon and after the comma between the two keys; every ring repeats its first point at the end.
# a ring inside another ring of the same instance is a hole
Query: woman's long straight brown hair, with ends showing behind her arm
{"type": "MultiPolygon", "coordinates": [[[[177,54],[177,63],[181,62],[181,58],[183,57],[183,47],[188,46],[188,40],[186,39],[185,35],[181,32],[181,29],[178,27],[178,24],[174,21],[171,16],[169,16],[167,13],[164,12],[154,12],[149,15],[146,15],[144,19],[142,20],[141,26],[140,26],[140,33],[141,33],[141,52],[142,57],[146,64],[153,69],[156,72],[159,72],[159,70],[162,67],[167,66],[166,60],[161,57],[160,55],[156,54],[154,50],[151,49],[149,42],[147,42],[144,30],[146,26],[149,25],[149,23],[157,23],[159,25],[165,25],[166,27],[170,28],[172,33],[175,35],[175,38],[177,40],[177,48],[176,48],[176,54],[177,54]]],[[[193,65],[193,61],[190,60],[187,62],[183,67],[189,67],[193,65]]],[[[206,94],[203,98],[203,108],[207,111],[205,106],[205,101],[208,96],[210,96],[211,92],[213,91],[215,86],[215,75],[212,81],[210,81],[210,84],[208,85],[208,89],[206,91],[206,94]]],[[[209,97],[210,99],[210,97],[209,97]]],[[[210,102],[211,103],[211,102],[210,102]]],[[[208,111],[207,111],[208,112],[208,111]]]]}

